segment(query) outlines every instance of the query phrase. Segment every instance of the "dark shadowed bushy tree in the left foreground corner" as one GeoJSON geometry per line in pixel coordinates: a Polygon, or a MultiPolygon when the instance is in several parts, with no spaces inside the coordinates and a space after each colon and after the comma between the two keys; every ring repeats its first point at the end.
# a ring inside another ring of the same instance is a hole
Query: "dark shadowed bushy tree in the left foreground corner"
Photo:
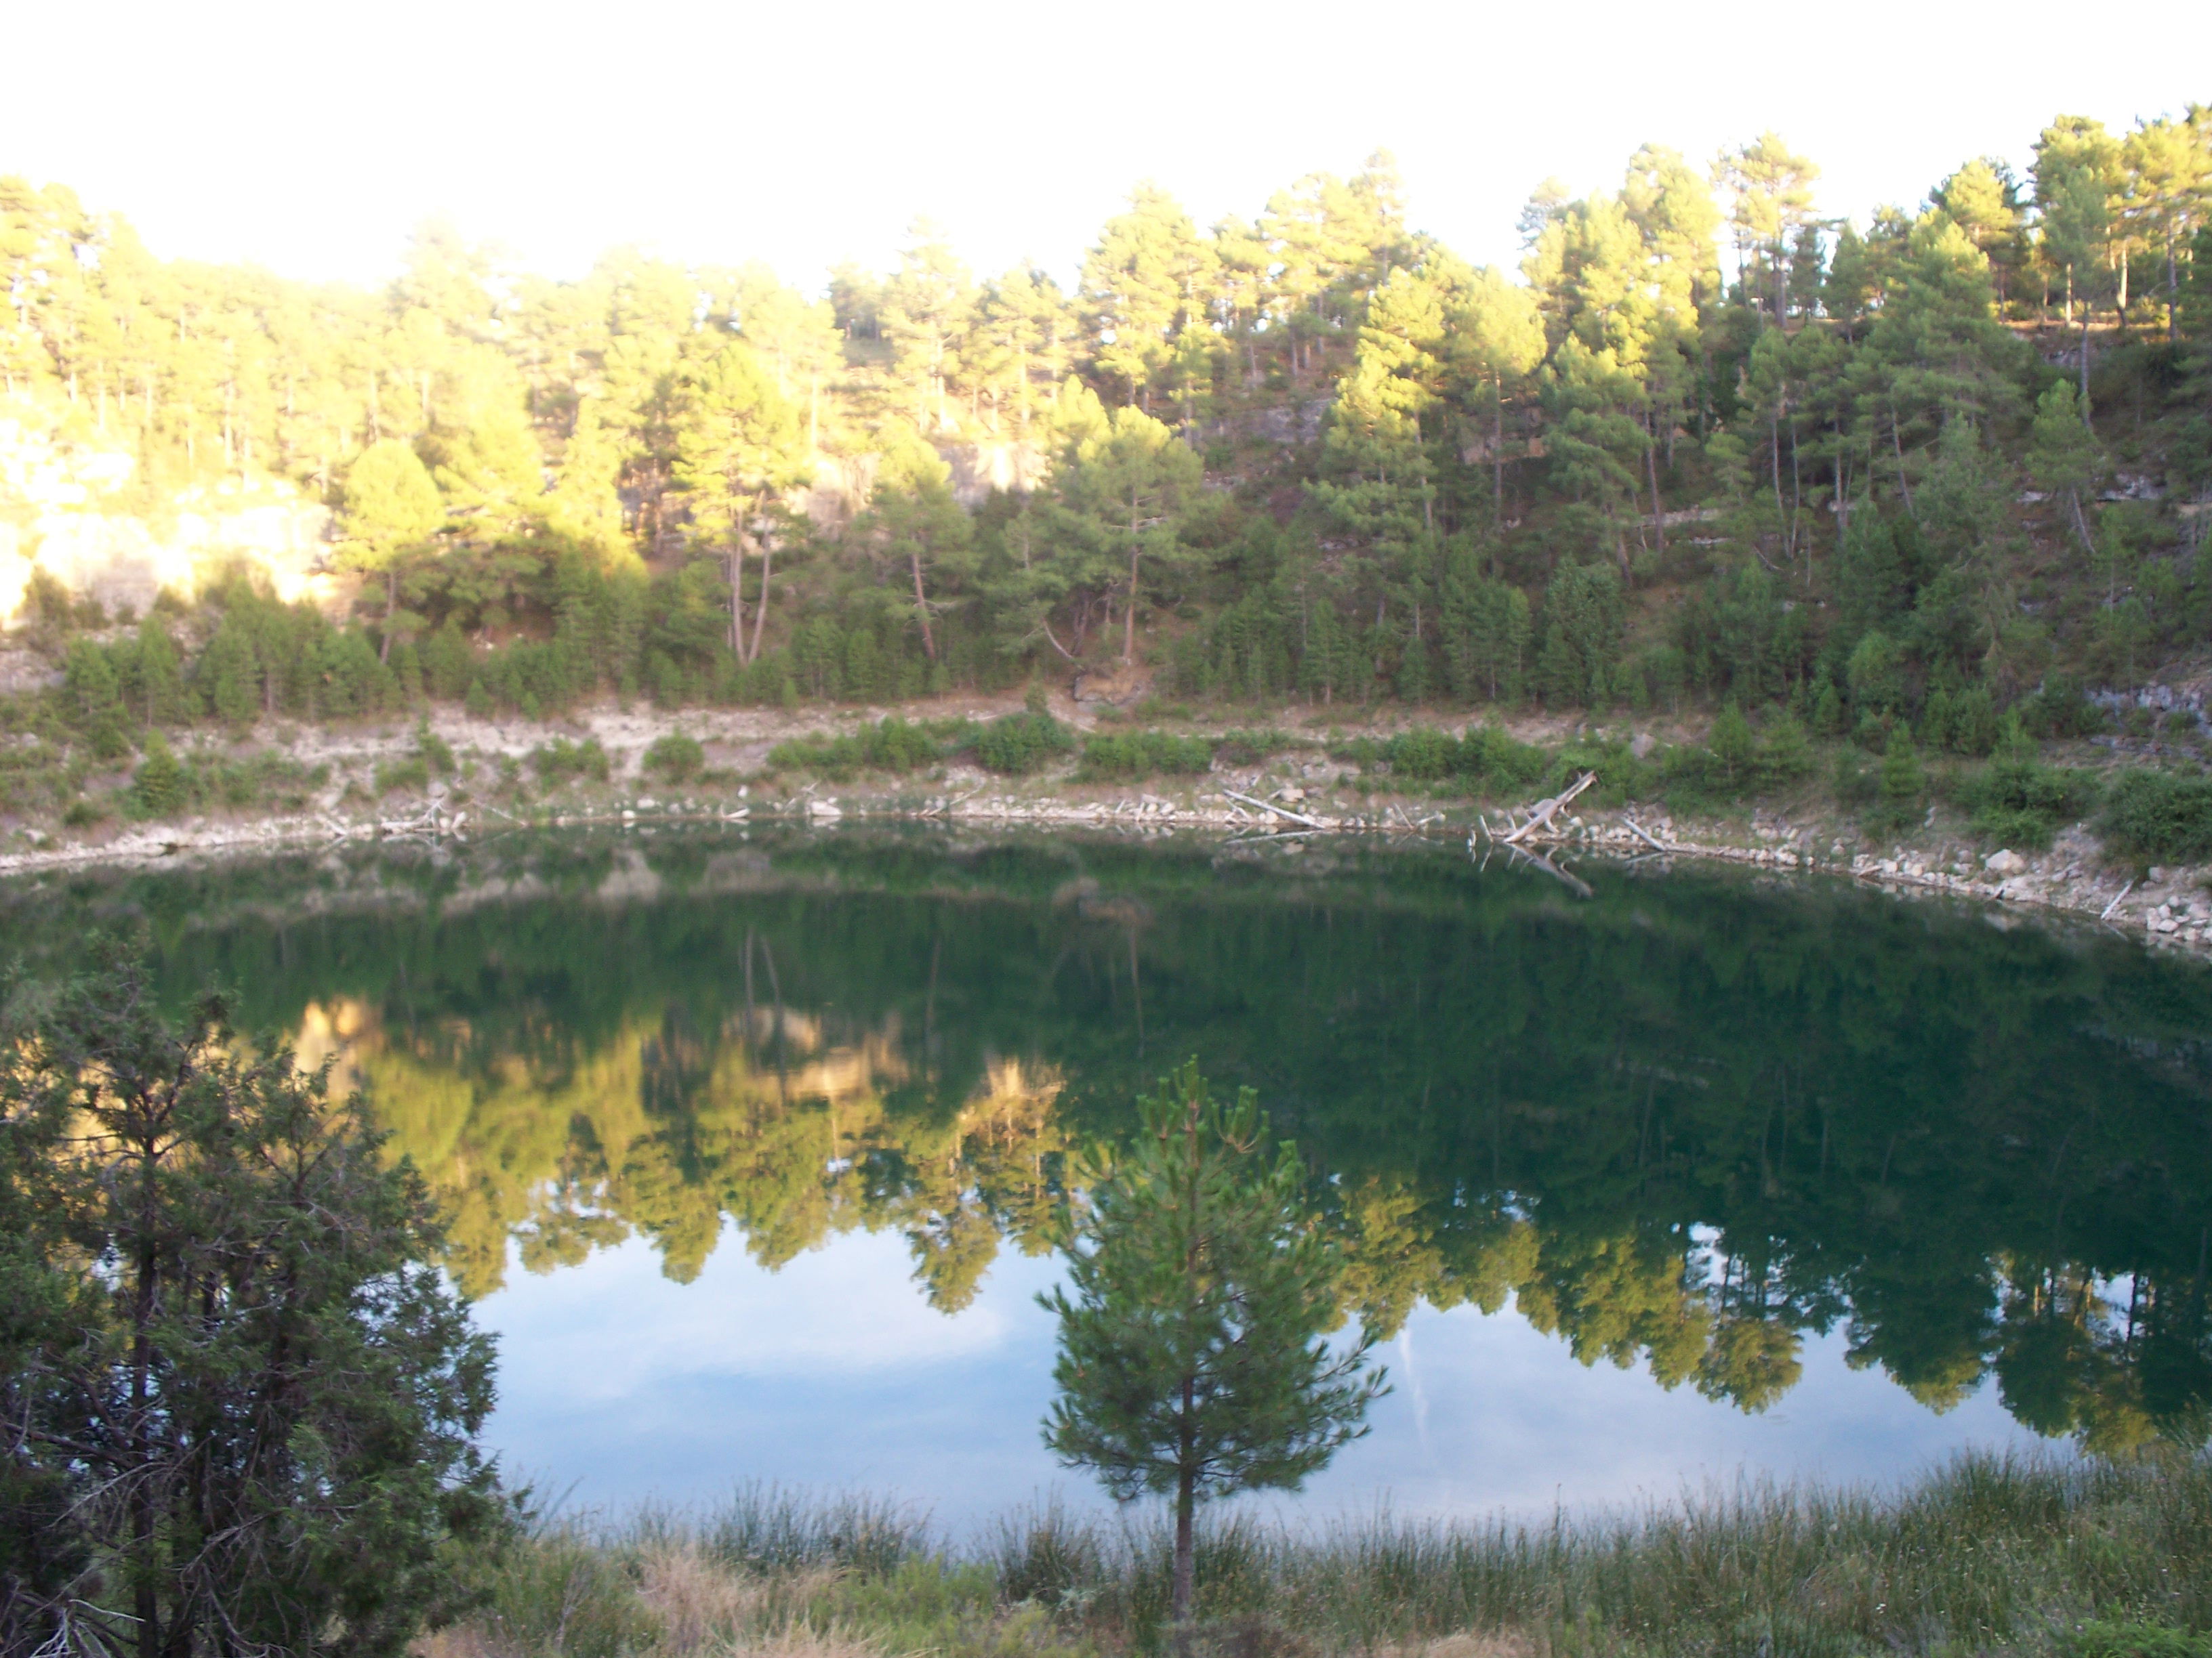
{"type": "Polygon", "coordinates": [[[0,1032],[0,1536],[40,1534],[0,1649],[396,1658],[498,1501],[429,1189],[327,1072],[86,953],[0,1032]]]}

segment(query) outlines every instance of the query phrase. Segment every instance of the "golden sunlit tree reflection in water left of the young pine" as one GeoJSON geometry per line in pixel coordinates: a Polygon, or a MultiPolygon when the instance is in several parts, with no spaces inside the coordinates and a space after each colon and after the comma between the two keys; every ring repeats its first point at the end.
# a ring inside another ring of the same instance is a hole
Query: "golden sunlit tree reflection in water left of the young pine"
{"type": "Polygon", "coordinates": [[[1066,1150],[1051,1066],[991,1059],[942,1114],[896,1114],[911,1079],[898,1021],[834,1041],[790,1008],[699,1028],[670,1008],[564,1063],[500,1054],[462,1068],[465,1026],[398,1039],[374,1008],[310,1006],[299,1048],[341,1057],[451,1216],[462,1289],[571,1267],[637,1234],[677,1282],[723,1225],[781,1267],[843,1231],[896,1229],[931,1304],[967,1307],[1002,1240],[1051,1247],[1066,1150]]]}

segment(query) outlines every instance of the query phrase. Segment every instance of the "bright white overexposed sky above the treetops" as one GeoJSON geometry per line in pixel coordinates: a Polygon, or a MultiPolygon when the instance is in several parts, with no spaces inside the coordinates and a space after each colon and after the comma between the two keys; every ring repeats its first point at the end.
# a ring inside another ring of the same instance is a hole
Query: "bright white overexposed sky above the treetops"
{"type": "Polygon", "coordinates": [[[1137,179],[1201,223],[1383,146],[1471,259],[1559,175],[1778,128],[1820,206],[2026,164],[2059,113],[2212,99],[2212,4],[1500,7],[1484,0],[18,0],[0,172],[64,181],[164,256],[380,281],[453,217],[577,274],[615,243],[816,285],[916,214],[982,270],[1068,274],[1137,179]]]}

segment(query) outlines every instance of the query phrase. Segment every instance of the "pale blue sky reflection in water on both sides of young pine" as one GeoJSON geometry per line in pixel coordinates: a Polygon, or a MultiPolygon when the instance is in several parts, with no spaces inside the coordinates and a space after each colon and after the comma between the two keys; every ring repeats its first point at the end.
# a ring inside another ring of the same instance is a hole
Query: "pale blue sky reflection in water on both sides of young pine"
{"type": "MultiPolygon", "coordinates": [[[[723,1240],[672,1284],[639,1240],[518,1273],[482,1304],[504,1388],[489,1439],[511,1470],[584,1508],[710,1503],[739,1479],[896,1492],[962,1525],[1046,1492],[1106,1505],[1037,1437],[1051,1399],[1057,1271],[1000,1256],[975,1302],[931,1311],[905,1245],[836,1238],[781,1271],[723,1240]]],[[[2042,1444],[1978,1388],[1938,1415],[1814,1337],[1805,1377],[1761,1415],[1582,1366],[1513,1311],[1416,1311],[1380,1349],[1394,1393],[1305,1510],[1515,1512],[1672,1497],[1739,1472],[1889,1481],[1966,1446],[2042,1444]]]]}

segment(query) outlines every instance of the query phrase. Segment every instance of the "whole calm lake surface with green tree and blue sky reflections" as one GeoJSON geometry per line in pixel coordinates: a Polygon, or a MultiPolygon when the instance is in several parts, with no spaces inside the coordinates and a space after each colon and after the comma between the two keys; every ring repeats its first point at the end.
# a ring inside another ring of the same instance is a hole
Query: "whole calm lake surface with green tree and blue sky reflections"
{"type": "Polygon", "coordinates": [[[2212,973],[1732,869],[872,827],[511,836],[0,886],[53,970],[358,1083],[575,1503],[1046,1492],[1053,1225],[1197,1054],[1259,1090],[1378,1335],[1310,1514],[1902,1479],[2212,1410],[2212,973]]]}

